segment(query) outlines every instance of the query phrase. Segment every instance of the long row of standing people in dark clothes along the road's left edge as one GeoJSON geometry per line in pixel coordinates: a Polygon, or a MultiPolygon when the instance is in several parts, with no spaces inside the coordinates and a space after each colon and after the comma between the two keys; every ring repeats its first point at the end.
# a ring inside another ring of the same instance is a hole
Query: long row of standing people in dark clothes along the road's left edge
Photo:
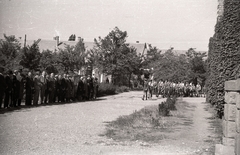
{"type": "Polygon", "coordinates": [[[46,71],[7,71],[0,68],[0,108],[93,100],[97,97],[98,79],[90,75],[47,74],[46,71]]]}

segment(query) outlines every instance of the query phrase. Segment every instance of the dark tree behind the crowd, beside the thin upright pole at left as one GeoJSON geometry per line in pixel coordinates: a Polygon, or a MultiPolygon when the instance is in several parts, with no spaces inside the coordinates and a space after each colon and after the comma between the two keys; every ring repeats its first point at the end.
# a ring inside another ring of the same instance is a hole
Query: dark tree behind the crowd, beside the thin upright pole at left
{"type": "Polygon", "coordinates": [[[37,44],[24,47],[22,49],[23,55],[20,61],[20,65],[28,68],[31,71],[37,71],[40,69],[41,53],[37,44]]]}

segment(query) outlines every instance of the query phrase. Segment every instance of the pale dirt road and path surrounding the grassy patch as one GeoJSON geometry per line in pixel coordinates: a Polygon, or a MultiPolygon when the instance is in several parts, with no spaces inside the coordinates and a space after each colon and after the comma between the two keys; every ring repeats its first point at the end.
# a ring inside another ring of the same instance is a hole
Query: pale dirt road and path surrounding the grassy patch
{"type": "MultiPolygon", "coordinates": [[[[165,99],[142,101],[133,91],[97,101],[55,104],[0,114],[0,154],[208,155],[219,130],[205,98],[183,98],[190,105],[185,126],[157,144],[122,142],[102,135],[107,122],[165,99]],[[190,118],[190,119],[189,119],[190,118]]],[[[218,123],[218,122],[217,122],[218,123]]]]}

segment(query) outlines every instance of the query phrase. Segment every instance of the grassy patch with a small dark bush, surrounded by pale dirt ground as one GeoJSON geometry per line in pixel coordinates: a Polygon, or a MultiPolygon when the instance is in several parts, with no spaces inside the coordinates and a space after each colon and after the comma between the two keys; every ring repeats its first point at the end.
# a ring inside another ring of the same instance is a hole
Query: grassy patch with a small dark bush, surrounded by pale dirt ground
{"type": "Polygon", "coordinates": [[[168,98],[158,106],[146,106],[108,122],[107,130],[102,136],[120,141],[158,142],[167,138],[166,132],[173,132],[186,107],[186,102],[168,98]]]}

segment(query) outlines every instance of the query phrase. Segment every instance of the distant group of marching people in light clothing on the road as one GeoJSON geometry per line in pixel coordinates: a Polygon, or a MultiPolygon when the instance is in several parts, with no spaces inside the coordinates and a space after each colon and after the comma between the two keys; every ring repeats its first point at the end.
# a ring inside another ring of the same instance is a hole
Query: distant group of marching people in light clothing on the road
{"type": "Polygon", "coordinates": [[[144,94],[143,100],[152,98],[153,94],[156,94],[156,97],[200,97],[203,95],[205,97],[204,88],[198,83],[194,85],[192,83],[183,83],[183,82],[170,82],[170,81],[154,81],[153,79],[144,79],[144,94]]]}

